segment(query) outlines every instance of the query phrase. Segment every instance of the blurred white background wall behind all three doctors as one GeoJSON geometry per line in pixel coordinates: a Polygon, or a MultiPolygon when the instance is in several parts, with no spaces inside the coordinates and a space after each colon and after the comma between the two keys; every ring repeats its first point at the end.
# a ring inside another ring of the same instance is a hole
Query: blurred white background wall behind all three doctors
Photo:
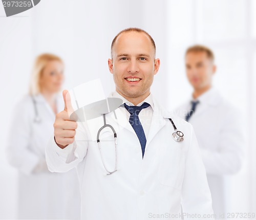
{"type": "Polygon", "coordinates": [[[65,88],[101,78],[106,96],[114,89],[108,70],[110,45],[127,27],[156,41],[160,71],[152,93],[168,109],[191,93],[185,49],[202,43],[216,54],[214,85],[244,113],[246,161],[233,177],[232,210],[256,212],[256,2],[253,0],[42,0],[6,17],[0,3],[0,219],[15,218],[17,173],[5,155],[11,109],[27,92],[32,62],[52,52],[66,63],[65,88]]]}

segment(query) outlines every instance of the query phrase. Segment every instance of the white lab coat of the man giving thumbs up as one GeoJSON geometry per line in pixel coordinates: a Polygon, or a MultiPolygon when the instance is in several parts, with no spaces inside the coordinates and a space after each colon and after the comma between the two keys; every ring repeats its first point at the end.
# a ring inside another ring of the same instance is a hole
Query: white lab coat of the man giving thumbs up
{"type": "MultiPolygon", "coordinates": [[[[211,214],[210,191],[192,126],[162,112],[154,100],[142,160],[138,137],[120,108],[115,111],[117,120],[113,112],[106,115],[106,123],[117,132],[118,164],[113,174],[106,175],[96,142],[97,131],[103,125],[102,117],[78,122],[75,142],[65,149],[59,148],[53,138],[46,148],[49,170],[66,172],[77,167],[81,219],[144,220],[166,219],[166,216],[180,219],[181,204],[185,213],[211,214]],[[183,142],[174,141],[174,128],[164,115],[172,117],[182,130],[183,142]]],[[[115,166],[113,139],[111,130],[102,130],[100,143],[110,170],[115,166]]]]}

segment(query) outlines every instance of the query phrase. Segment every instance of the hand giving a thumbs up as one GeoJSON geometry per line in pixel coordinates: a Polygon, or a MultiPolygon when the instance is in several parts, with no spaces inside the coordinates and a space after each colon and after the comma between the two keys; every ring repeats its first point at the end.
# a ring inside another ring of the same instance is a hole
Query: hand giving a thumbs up
{"type": "Polygon", "coordinates": [[[65,108],[62,112],[55,116],[54,127],[54,139],[56,144],[60,148],[65,148],[69,144],[72,144],[75,140],[77,122],[71,121],[69,117],[69,112],[74,112],[70,94],[67,90],[62,92],[63,100],[65,103],[65,108]]]}

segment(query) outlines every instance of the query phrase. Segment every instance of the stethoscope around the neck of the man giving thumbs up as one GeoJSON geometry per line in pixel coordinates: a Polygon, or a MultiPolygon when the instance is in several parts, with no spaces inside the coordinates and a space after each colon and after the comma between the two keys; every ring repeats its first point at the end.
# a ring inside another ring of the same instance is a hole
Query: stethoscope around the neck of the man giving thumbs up
{"type": "MultiPolygon", "coordinates": [[[[101,156],[101,160],[102,160],[102,163],[103,163],[103,166],[105,168],[105,170],[107,171],[107,175],[110,175],[112,174],[113,172],[117,171],[117,135],[116,135],[116,131],[114,129],[113,126],[111,126],[110,124],[106,124],[106,116],[105,114],[103,114],[103,120],[104,120],[104,125],[99,128],[98,130],[98,134],[97,134],[97,143],[98,143],[98,146],[99,146],[99,151],[100,151],[100,156],[101,156]],[[103,159],[103,155],[102,155],[102,151],[101,151],[101,146],[100,146],[100,140],[99,140],[99,135],[100,135],[100,131],[102,131],[105,127],[110,127],[111,130],[113,131],[113,134],[114,134],[114,140],[115,140],[115,152],[116,152],[116,164],[115,164],[115,168],[113,171],[109,171],[108,168],[106,168],[106,165],[105,165],[105,161],[103,159]]],[[[184,140],[184,134],[180,131],[180,130],[177,130],[177,127],[175,126],[173,120],[171,118],[169,118],[170,122],[172,122],[172,125],[174,127],[174,133],[172,134],[172,137],[173,139],[176,141],[176,142],[182,142],[184,140]]]]}

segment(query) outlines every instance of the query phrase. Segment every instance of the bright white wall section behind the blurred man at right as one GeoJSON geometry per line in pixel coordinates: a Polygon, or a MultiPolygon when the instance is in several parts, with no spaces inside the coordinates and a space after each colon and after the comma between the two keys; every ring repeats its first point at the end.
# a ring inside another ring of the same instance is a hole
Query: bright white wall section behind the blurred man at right
{"type": "Polygon", "coordinates": [[[214,50],[217,73],[214,86],[240,108],[246,134],[243,169],[232,179],[233,212],[256,211],[255,203],[255,1],[169,1],[168,92],[169,108],[175,108],[191,93],[185,76],[184,53],[200,43],[214,50]],[[253,62],[254,61],[254,62],[253,62]],[[177,95],[179,94],[179,95],[177,95]]]}

